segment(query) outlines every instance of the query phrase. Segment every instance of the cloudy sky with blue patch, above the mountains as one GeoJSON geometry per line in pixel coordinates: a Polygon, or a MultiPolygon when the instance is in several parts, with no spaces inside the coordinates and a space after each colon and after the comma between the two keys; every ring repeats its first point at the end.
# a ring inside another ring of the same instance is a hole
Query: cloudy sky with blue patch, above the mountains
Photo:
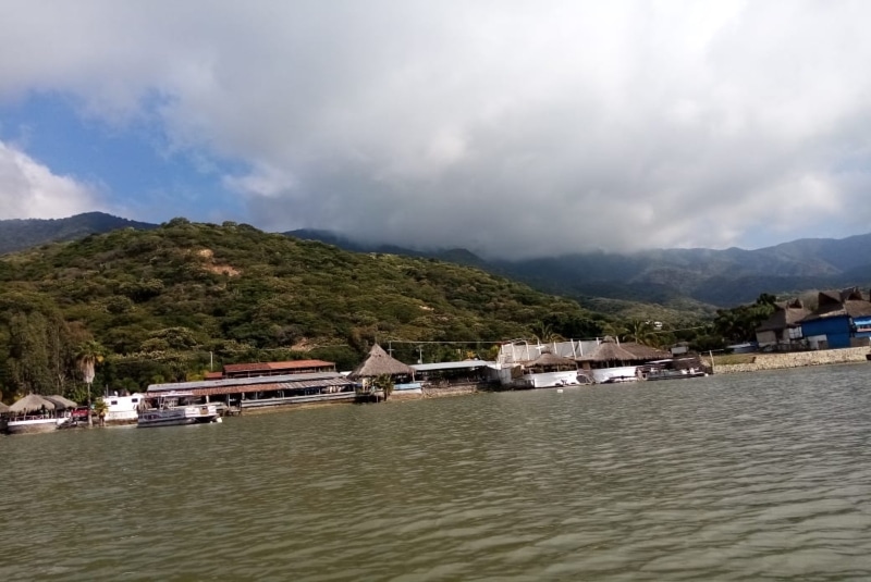
{"type": "Polygon", "coordinates": [[[871,232],[871,2],[5,0],[0,219],[484,257],[871,232]]]}

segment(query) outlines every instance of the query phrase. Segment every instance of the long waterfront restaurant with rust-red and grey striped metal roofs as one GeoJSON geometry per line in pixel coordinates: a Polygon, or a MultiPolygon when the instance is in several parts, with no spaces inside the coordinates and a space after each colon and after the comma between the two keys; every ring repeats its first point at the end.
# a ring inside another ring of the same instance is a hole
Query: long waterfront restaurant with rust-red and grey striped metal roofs
{"type": "Polygon", "coordinates": [[[353,401],[355,383],[335,371],[333,362],[298,360],[228,364],[221,377],[195,382],[151,384],[146,398],[180,404],[218,404],[226,411],[262,409],[295,404],[353,401]]]}

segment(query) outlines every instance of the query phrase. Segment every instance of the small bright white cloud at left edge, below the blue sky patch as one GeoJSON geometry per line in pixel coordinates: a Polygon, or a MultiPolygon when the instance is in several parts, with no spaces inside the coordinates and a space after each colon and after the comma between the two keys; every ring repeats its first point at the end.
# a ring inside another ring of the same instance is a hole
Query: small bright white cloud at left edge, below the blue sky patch
{"type": "Polygon", "coordinates": [[[61,219],[100,210],[98,194],[0,141],[0,219],[61,219]]]}

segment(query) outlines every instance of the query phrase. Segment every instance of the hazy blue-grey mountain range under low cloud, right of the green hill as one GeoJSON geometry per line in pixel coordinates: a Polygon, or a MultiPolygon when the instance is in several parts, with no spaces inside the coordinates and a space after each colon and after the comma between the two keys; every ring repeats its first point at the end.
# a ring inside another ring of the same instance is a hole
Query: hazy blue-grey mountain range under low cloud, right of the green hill
{"type": "MultiPolygon", "coordinates": [[[[790,295],[851,285],[871,287],[871,234],[843,239],[805,238],[757,250],[594,251],[523,261],[487,261],[462,249],[420,251],[364,245],[321,231],[286,234],[357,251],[470,264],[585,305],[608,298],[682,310],[708,306],[710,311],[713,307],[752,302],[762,293],[790,295]]],[[[621,310],[625,309],[624,304],[619,305],[621,310]]]]}

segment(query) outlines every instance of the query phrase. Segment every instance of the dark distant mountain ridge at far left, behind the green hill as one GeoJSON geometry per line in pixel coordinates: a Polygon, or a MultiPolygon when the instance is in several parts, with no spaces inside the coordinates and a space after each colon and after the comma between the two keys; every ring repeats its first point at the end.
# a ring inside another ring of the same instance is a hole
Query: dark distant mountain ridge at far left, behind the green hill
{"type": "Polygon", "coordinates": [[[103,212],[86,212],[69,219],[0,220],[0,255],[127,227],[148,231],[157,228],[157,225],[103,212]]]}

